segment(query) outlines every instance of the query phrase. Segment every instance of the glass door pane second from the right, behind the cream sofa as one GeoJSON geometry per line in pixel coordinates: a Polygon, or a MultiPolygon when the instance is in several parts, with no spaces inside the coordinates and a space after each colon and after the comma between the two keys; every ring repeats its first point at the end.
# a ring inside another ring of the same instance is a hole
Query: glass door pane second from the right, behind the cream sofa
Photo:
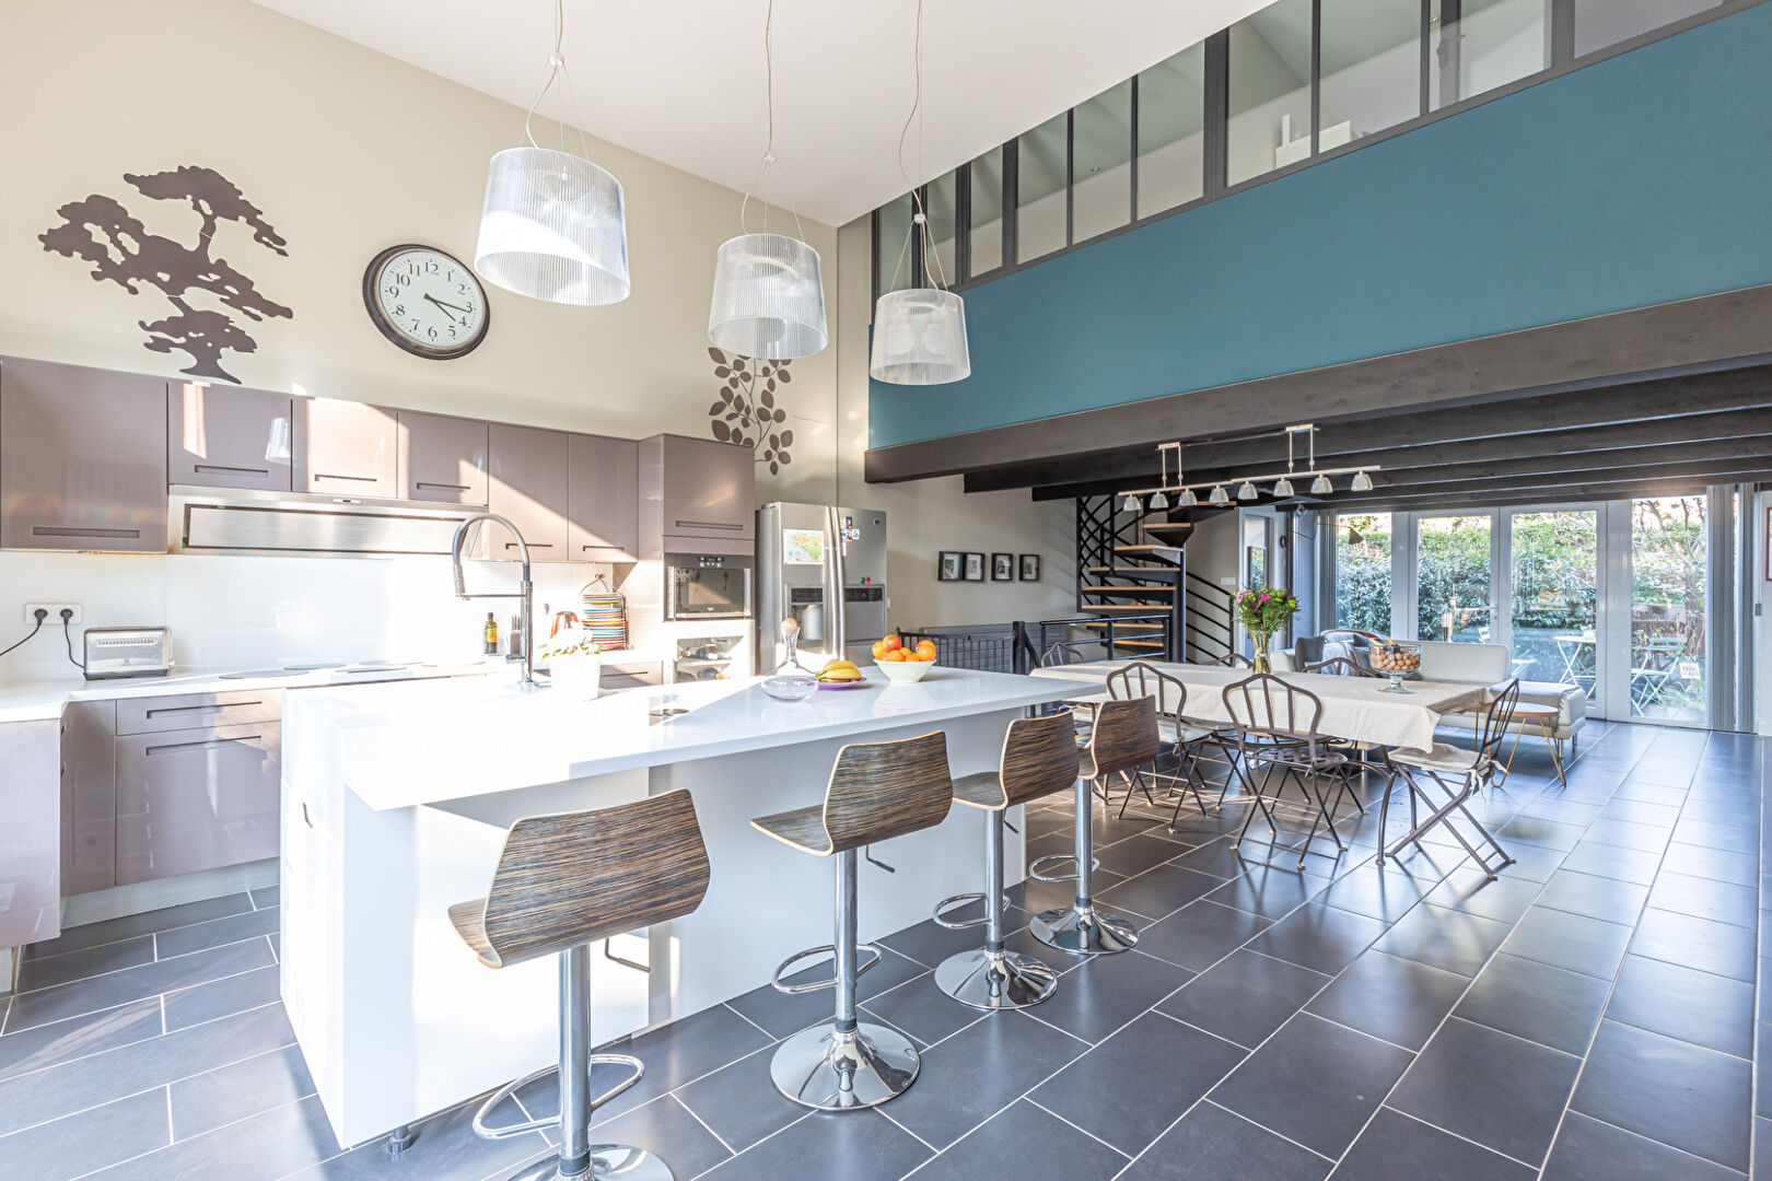
{"type": "Polygon", "coordinates": [[[1510,515],[1508,643],[1520,680],[1581,685],[1589,710],[1600,643],[1600,512],[1545,508],[1510,515]]]}

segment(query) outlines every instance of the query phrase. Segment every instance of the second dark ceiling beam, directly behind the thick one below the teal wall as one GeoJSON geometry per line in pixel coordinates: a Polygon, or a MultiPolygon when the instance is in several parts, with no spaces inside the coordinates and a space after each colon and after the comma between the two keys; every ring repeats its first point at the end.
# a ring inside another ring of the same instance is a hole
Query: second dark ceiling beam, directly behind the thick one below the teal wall
{"type": "MultiPolygon", "coordinates": [[[[1343,457],[1377,452],[1402,452],[1421,446],[1439,446],[1471,441],[1488,441],[1487,453],[1519,455],[1520,444],[1510,443],[1520,436],[1568,432],[1563,439],[1579,439],[1595,428],[1621,430],[1618,446],[1648,444],[1666,430],[1671,441],[1712,437],[1708,432],[1721,423],[1696,423],[1696,434],[1682,436],[1675,423],[1710,420],[1719,414],[1772,409],[1772,368],[1749,367],[1692,377],[1653,379],[1579,393],[1519,398],[1504,405],[1469,405],[1418,414],[1391,414],[1382,420],[1329,423],[1317,430],[1317,459],[1325,467],[1352,466],[1343,457]],[[1657,427],[1666,423],[1666,427],[1657,427]],[[1634,428],[1634,430],[1625,430],[1634,428]]],[[[1561,443],[1554,443],[1561,446],[1561,443]]],[[[1189,473],[1196,469],[1253,467],[1263,471],[1285,464],[1286,441],[1283,434],[1226,443],[1196,443],[1182,452],[1189,473]]],[[[1359,460],[1382,462],[1382,460],[1359,460]]],[[[1097,452],[1090,455],[1058,453],[1035,464],[1017,464],[966,476],[968,492],[998,492],[1003,489],[1049,487],[1058,483],[1118,482],[1118,487],[1139,487],[1157,482],[1155,446],[1134,450],[1097,452]]],[[[1193,476],[1189,475],[1189,480],[1193,476]]]]}

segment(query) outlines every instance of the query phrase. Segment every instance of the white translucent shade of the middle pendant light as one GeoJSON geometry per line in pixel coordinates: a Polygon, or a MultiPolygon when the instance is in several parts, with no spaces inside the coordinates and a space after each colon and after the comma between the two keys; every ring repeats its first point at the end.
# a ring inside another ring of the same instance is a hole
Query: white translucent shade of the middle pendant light
{"type": "Polygon", "coordinates": [[[781,361],[824,349],[819,251],[785,234],[739,234],[714,257],[707,338],[739,356],[781,361]]]}

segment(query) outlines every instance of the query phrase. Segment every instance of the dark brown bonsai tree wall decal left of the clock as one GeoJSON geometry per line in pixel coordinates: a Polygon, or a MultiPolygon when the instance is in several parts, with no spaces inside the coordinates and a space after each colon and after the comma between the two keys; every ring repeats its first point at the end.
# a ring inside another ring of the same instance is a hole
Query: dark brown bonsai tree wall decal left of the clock
{"type": "Polygon", "coordinates": [[[213,308],[195,308],[190,297],[206,294],[252,320],[291,319],[294,312],[262,296],[257,283],[227,259],[211,253],[216,230],[227,221],[252,230],[255,244],[278,255],[289,255],[287,243],[264,220],[264,212],[214,168],[186,165],[152,175],[124,174],[124,181],[144,197],[188,202],[202,218],[197,244],[186,246],[151,234],[119,200],[101,193],[57,209],[62,223],[39,234],[37,241],[50,253],[90,262],[92,278],[99,283],[117,283],[131,296],[142,294],[142,285],[158,289],[172,303],[174,313],[152,322],[138,320],[149,336],[142,347],[151,352],[188,354],[191,363],[179,372],[191,377],[239,384],[237,377],[222,368],[222,356],[257,352],[259,342],[234,317],[213,308]]]}

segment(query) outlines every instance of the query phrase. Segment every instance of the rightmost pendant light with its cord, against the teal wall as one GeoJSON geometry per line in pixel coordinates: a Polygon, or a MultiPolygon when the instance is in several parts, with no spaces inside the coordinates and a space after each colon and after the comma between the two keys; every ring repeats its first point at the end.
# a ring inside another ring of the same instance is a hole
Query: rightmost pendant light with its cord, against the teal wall
{"type": "MultiPolygon", "coordinates": [[[[916,41],[913,42],[913,69],[916,87],[911,113],[898,131],[898,175],[911,189],[914,214],[911,234],[923,237],[923,259],[934,259],[932,287],[890,290],[874,305],[874,349],[868,358],[868,375],[895,386],[941,386],[971,375],[973,359],[966,345],[966,303],[946,290],[941,257],[929,241],[929,216],[923,197],[904,170],[904,140],[911,122],[923,104],[923,0],[916,0],[916,41]]],[[[918,124],[921,140],[921,124],[918,124]]],[[[905,239],[909,243],[909,237],[905,239]]]]}

